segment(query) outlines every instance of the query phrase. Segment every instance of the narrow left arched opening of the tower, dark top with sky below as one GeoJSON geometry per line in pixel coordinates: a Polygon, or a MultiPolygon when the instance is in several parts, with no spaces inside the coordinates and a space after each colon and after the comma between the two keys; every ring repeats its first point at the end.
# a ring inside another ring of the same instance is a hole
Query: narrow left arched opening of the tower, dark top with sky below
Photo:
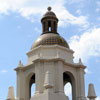
{"type": "Polygon", "coordinates": [[[29,82],[29,97],[31,98],[35,93],[35,74],[30,78],[29,82]]]}

